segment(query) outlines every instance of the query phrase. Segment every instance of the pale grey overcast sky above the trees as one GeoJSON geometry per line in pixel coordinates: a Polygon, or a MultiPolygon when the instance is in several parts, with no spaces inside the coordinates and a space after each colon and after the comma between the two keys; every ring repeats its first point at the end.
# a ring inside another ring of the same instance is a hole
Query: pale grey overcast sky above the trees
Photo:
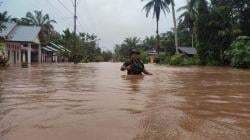
{"type": "MultiPolygon", "coordinates": [[[[57,21],[54,25],[59,32],[73,29],[73,0],[0,0],[0,11],[8,11],[13,17],[24,17],[27,11],[42,10],[57,21]],[[59,3],[61,1],[62,4],[59,3]]],[[[186,0],[176,0],[176,9],[185,5],[186,0]]],[[[102,49],[112,50],[124,38],[144,38],[155,34],[155,19],[146,18],[141,0],[78,0],[78,32],[95,33],[102,49]]],[[[178,13],[177,13],[178,15],[178,13]]],[[[162,16],[160,32],[173,27],[172,14],[162,16]]]]}

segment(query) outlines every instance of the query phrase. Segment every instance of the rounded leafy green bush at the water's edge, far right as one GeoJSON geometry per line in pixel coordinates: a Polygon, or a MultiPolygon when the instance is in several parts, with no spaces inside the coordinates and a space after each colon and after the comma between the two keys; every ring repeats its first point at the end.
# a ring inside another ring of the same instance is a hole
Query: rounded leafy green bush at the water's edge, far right
{"type": "Polygon", "coordinates": [[[250,68],[250,37],[238,37],[225,51],[225,57],[232,67],[250,68]]]}

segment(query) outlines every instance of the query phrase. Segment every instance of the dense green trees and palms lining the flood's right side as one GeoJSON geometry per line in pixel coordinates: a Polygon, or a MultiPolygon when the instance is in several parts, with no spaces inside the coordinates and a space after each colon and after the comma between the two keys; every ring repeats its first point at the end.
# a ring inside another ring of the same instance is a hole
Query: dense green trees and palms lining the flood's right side
{"type": "MultiPolygon", "coordinates": [[[[188,0],[177,10],[180,14],[177,19],[174,17],[174,2],[149,0],[145,4],[146,17],[153,12],[153,18],[156,18],[156,36],[137,41],[142,52],[156,48],[158,56],[155,62],[159,64],[250,68],[250,1],[188,0]],[[174,23],[178,24],[176,27],[174,24],[172,31],[159,33],[159,17],[170,12],[169,6],[172,7],[174,23]],[[179,54],[179,46],[194,47],[197,55],[187,57],[179,54]]],[[[126,40],[116,45],[116,60],[123,60],[127,50],[133,47],[126,40]]]]}

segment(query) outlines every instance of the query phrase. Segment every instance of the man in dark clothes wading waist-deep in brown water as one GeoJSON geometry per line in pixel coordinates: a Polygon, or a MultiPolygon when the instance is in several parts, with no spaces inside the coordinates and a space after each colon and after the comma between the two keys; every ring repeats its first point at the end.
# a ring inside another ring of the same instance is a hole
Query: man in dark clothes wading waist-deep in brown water
{"type": "Polygon", "coordinates": [[[146,75],[153,75],[152,73],[148,72],[143,62],[139,58],[140,52],[136,49],[132,49],[130,52],[130,60],[126,61],[122,67],[121,71],[128,72],[128,75],[142,75],[142,73],[146,75]]]}

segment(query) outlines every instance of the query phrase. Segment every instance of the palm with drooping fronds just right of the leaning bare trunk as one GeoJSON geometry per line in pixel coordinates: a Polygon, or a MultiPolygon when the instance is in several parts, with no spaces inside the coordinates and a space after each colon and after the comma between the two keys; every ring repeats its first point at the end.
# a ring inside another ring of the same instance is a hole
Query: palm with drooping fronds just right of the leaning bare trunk
{"type": "Polygon", "coordinates": [[[183,11],[179,19],[184,19],[184,24],[192,33],[192,47],[194,47],[195,22],[197,19],[197,0],[188,0],[187,4],[178,9],[178,12],[183,11]]]}

